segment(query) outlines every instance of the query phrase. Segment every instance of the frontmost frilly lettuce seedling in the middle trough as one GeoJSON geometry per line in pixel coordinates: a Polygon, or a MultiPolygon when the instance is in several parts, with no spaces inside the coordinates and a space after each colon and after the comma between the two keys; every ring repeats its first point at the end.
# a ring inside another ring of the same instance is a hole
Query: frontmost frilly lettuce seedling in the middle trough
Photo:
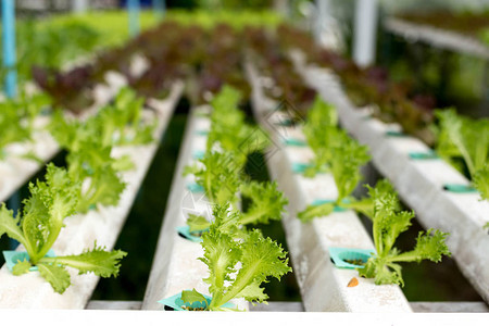
{"type": "MultiPolygon", "coordinates": [[[[259,230],[248,231],[241,239],[228,233],[238,227],[239,218],[239,213],[229,213],[228,206],[217,205],[209,233],[202,235],[204,256],[200,260],[209,267],[209,277],[204,281],[210,285],[212,296],[206,310],[229,310],[222,305],[237,298],[265,302],[268,296],[261,284],[268,277],[280,279],[291,272],[281,246],[264,238],[259,230]]],[[[195,289],[190,292],[184,291],[185,302],[202,302],[202,294],[195,289]]]]}

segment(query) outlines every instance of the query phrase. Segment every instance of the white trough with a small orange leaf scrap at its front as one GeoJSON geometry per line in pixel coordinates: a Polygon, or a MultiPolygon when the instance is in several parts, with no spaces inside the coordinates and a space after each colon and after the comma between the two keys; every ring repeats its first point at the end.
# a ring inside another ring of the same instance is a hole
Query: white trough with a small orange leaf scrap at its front
{"type": "Polygon", "coordinates": [[[290,136],[305,139],[300,127],[277,127],[276,105],[262,92],[261,78],[251,64],[247,73],[252,85],[252,106],[255,118],[271,134],[273,146],[267,165],[273,179],[289,199],[288,214],[283,224],[290,250],[293,272],[298,279],[305,311],[408,313],[410,304],[398,286],[377,286],[373,279],[359,277],[354,269],[337,268],[330,261],[330,247],[373,249],[374,244],[360,218],[352,211],[338,212],[327,217],[302,223],[297,213],[316,199],[337,198],[337,188],[330,174],[305,178],[292,172],[292,163],[306,163],[313,156],[309,148],[288,147],[284,139],[290,136]],[[356,277],[356,287],[347,287],[356,277]]]}

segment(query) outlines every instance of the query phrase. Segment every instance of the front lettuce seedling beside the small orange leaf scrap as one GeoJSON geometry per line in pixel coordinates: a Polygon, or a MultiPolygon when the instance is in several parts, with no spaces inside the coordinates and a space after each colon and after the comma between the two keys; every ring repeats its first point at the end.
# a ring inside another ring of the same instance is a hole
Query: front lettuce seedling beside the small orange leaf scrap
{"type": "Polygon", "coordinates": [[[408,230],[414,212],[400,211],[400,203],[394,192],[386,192],[387,188],[369,188],[374,201],[373,238],[376,253],[368,259],[364,268],[358,268],[360,276],[375,278],[375,284],[398,284],[403,286],[401,274],[403,262],[421,262],[430,260],[440,262],[442,255],[451,255],[446,238],[448,234],[428,229],[417,236],[416,246],[412,251],[400,252],[394,242],[400,234],[408,230]]]}

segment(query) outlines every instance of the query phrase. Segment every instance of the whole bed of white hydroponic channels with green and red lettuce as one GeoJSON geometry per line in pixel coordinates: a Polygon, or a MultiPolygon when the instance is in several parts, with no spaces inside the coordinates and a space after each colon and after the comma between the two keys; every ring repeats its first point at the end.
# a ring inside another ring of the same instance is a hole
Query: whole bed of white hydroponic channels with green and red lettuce
{"type": "MultiPolygon", "coordinates": [[[[5,255],[0,305],[83,309],[98,276],[117,274],[125,253],[103,247],[115,243],[154,154],[154,139],[181,95],[178,80],[188,82],[196,106],[143,309],[248,309],[247,301],[266,300],[261,284],[291,268],[281,247],[252,226],[280,218],[306,311],[409,312],[398,287],[403,284],[399,263],[438,262],[450,251],[487,301],[488,121],[440,111],[435,137],[429,111],[389,80],[367,85],[369,73],[314,48],[309,36],[291,27],[203,29],[172,22],[66,73],[36,68],[34,77],[53,106],[70,111],[43,111],[39,93],[4,101],[1,123],[11,138],[2,146],[2,175],[22,162],[30,170],[18,176],[23,183],[39,167],[26,160],[41,156],[45,139],[67,150],[67,166],[48,165],[46,181],[29,186],[30,197],[16,217],[1,210],[0,235],[23,246],[5,255]],[[303,53],[335,74],[311,71],[303,53]],[[302,80],[334,105],[315,98],[302,80]],[[120,91],[125,85],[129,88],[120,91]],[[350,110],[343,87],[368,109],[350,110]],[[261,127],[246,123],[238,109],[248,96],[261,127]],[[341,129],[339,120],[369,148],[341,129]],[[480,192],[393,122],[436,143],[441,158],[467,166],[480,192]],[[244,177],[243,166],[255,151],[265,151],[273,183],[244,177]],[[371,158],[393,186],[381,180],[358,199],[352,192],[371,158]],[[443,174],[435,179],[425,173],[440,168],[443,174]],[[428,186],[411,200],[413,188],[428,186]],[[419,234],[409,252],[394,244],[414,213],[401,208],[394,188],[427,216],[422,221],[427,228],[438,228],[419,234]],[[249,204],[241,211],[244,200],[249,204]],[[355,212],[372,221],[373,241],[355,212]]],[[[1,181],[2,189],[9,187],[1,181]]]]}

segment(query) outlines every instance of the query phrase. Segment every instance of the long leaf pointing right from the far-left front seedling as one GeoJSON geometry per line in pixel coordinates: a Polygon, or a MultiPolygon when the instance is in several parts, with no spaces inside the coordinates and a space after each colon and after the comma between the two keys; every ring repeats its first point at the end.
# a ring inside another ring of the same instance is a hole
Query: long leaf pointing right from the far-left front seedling
{"type": "Polygon", "coordinates": [[[42,258],[40,263],[53,263],[78,269],[79,274],[93,273],[100,277],[117,276],[121,267],[120,261],[127,253],[121,250],[106,251],[103,247],[86,250],[78,255],[42,258]]]}

